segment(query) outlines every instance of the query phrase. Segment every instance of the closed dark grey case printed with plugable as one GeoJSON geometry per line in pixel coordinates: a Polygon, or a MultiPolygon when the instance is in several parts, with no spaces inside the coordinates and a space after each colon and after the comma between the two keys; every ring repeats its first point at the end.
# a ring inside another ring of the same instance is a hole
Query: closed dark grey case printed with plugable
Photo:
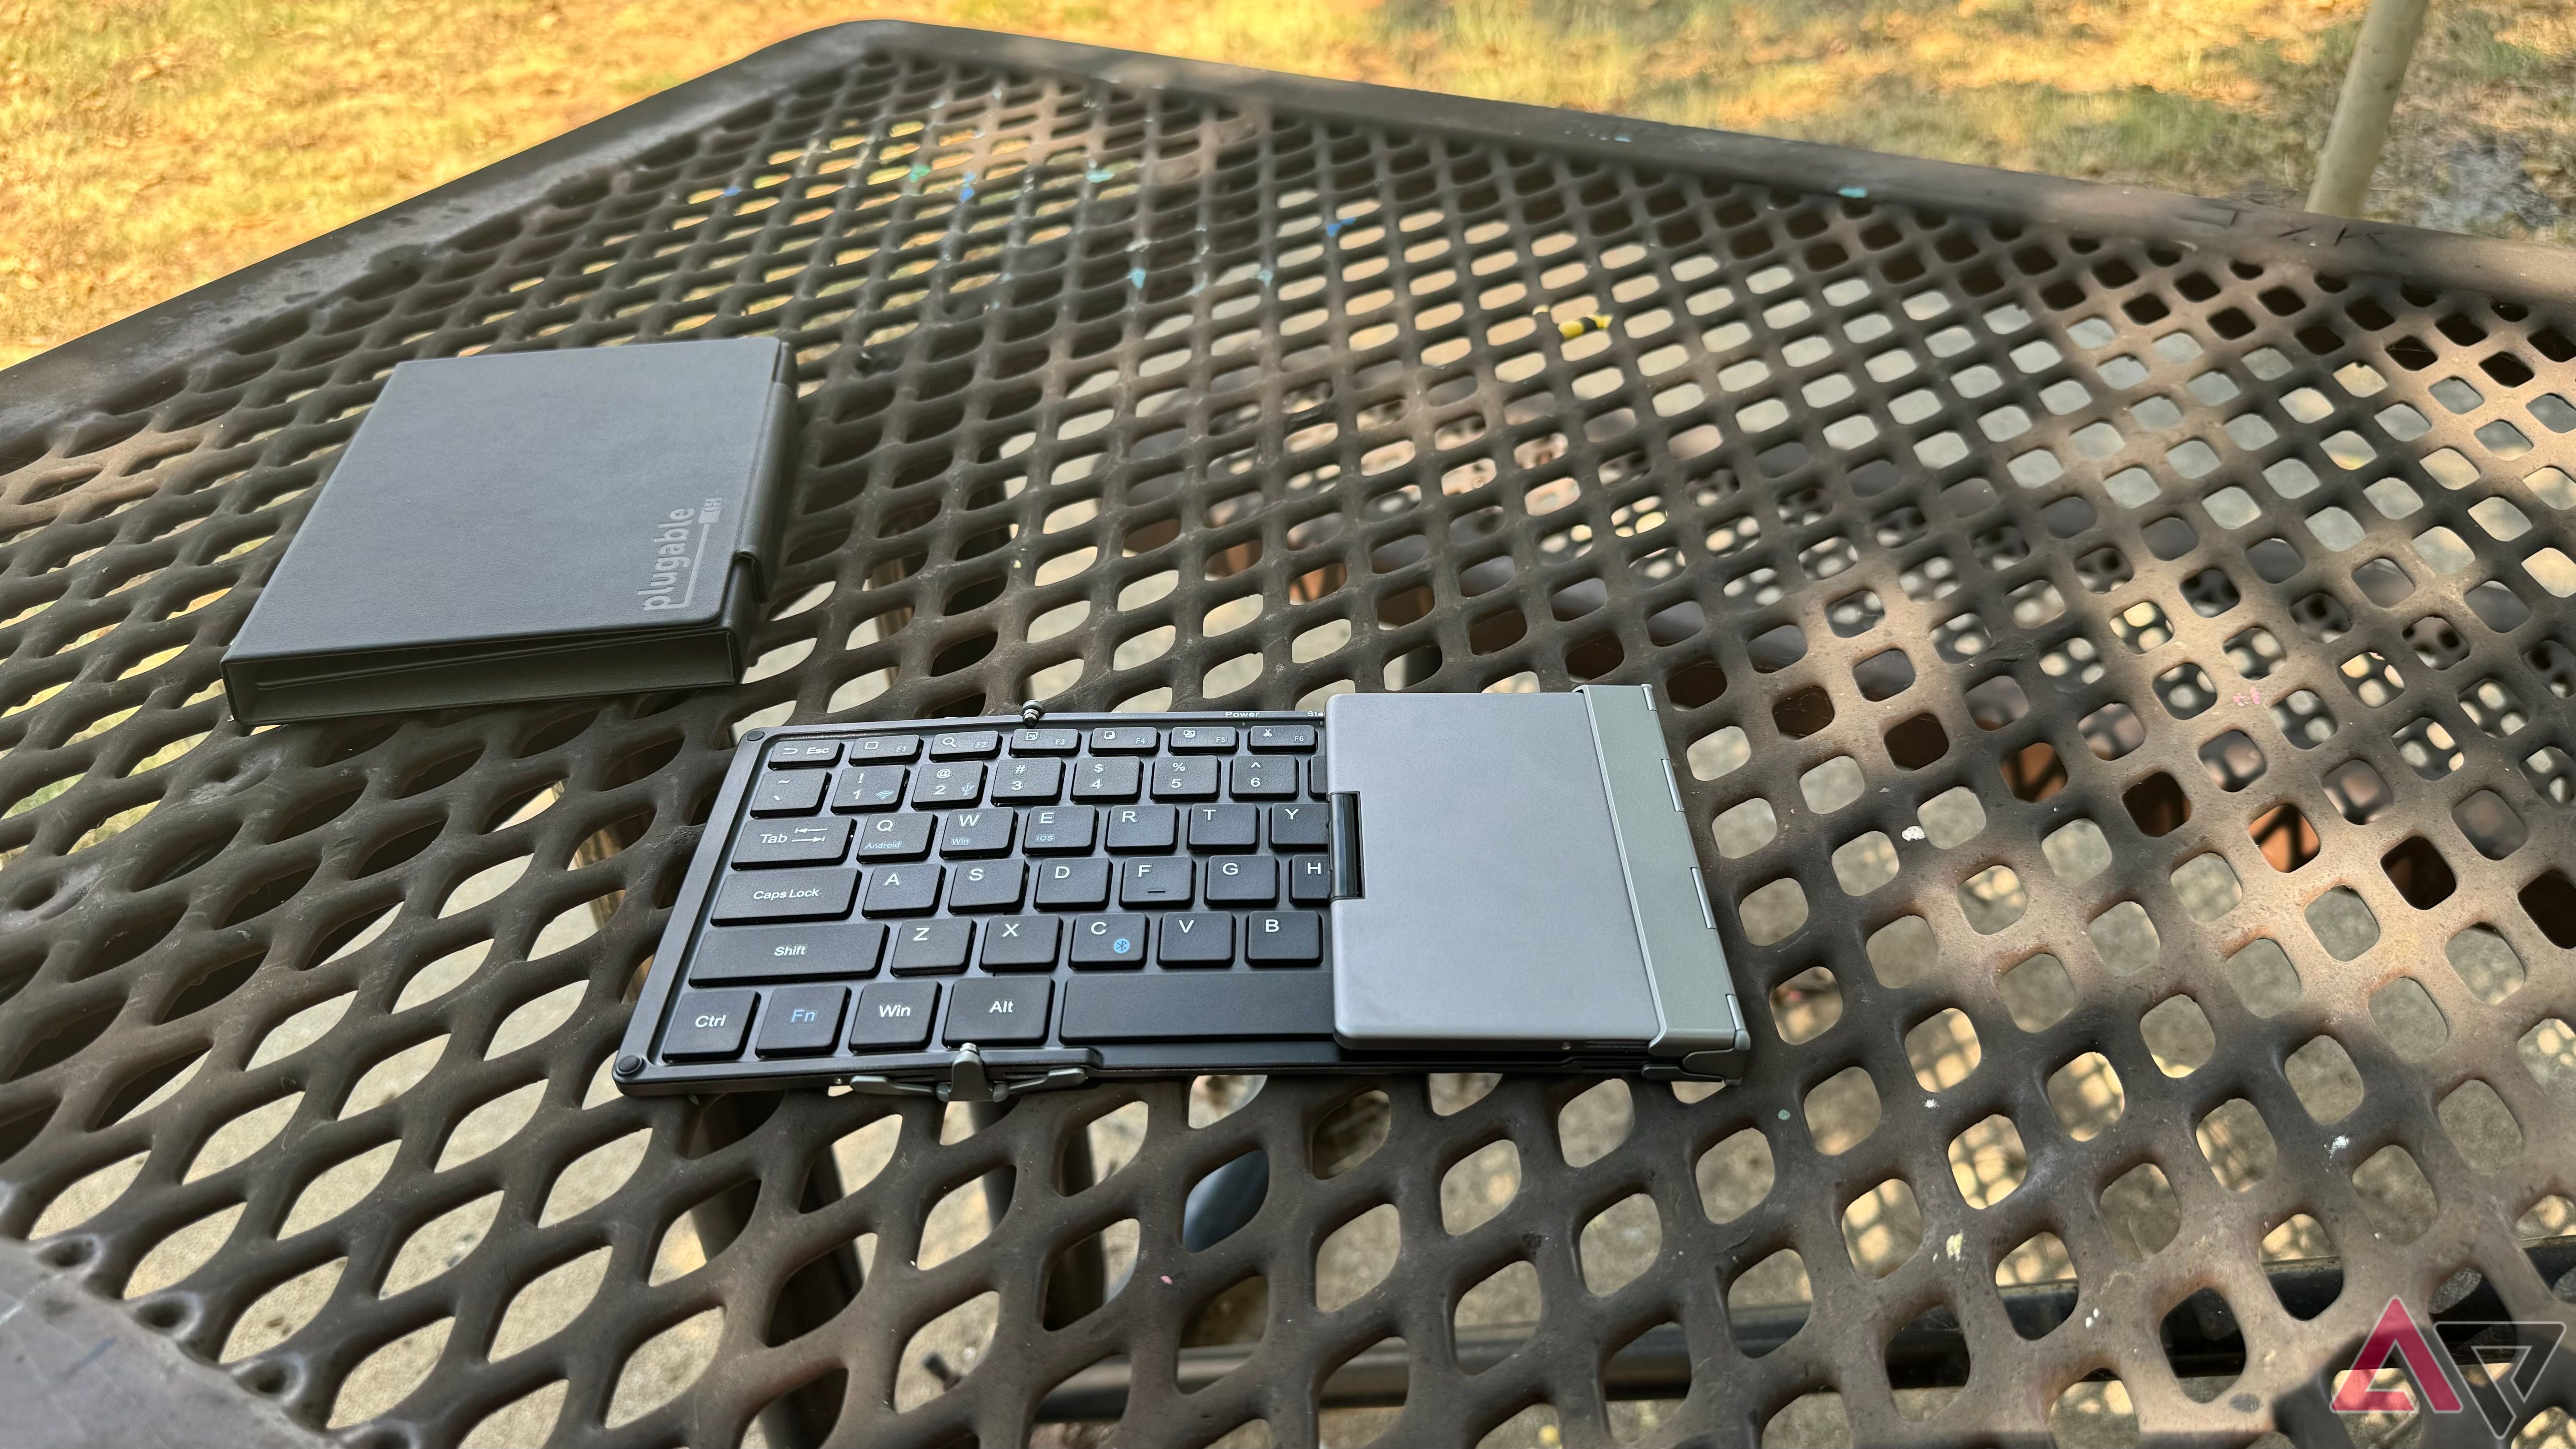
{"type": "Polygon", "coordinates": [[[773,338],[399,364],[224,652],[232,714],[734,683],[793,413],[773,338]]]}

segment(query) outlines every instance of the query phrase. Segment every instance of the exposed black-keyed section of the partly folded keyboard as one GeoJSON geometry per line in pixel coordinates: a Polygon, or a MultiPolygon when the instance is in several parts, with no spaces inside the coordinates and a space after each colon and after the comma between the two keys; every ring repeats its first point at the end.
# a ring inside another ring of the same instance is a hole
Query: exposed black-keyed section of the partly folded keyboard
{"type": "Polygon", "coordinates": [[[1337,1065],[1321,732],[1314,714],[757,732],[618,1080],[1337,1065]]]}

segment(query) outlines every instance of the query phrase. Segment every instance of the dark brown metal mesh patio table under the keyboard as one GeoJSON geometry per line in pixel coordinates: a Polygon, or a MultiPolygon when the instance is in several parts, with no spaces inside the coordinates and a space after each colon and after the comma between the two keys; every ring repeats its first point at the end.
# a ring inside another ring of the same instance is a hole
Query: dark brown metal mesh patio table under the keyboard
{"type": "Polygon", "coordinates": [[[2550,253],[1824,147],[907,26],[762,52],[0,379],[0,1235],[363,1444],[513,1403],[556,1444],[1301,1444],[1327,1400],[2025,1439],[2105,1377],[2148,1436],[2336,1441],[2391,1294],[2568,1318],[2568,299],[2550,253]],[[227,722],[394,361],[737,333],[804,392],[739,688],[227,722]],[[1770,1000],[1749,1083],[1638,1085],[1589,1160],[1582,1080],[971,1132],[605,1085],[747,727],[1584,678],[1669,696],[1770,1000]],[[1494,1152],[1466,1225],[1443,1178],[1494,1152]],[[920,1266],[969,1189],[989,1235],[920,1266]],[[1319,1307],[1381,1207],[1383,1279],[1319,1307]],[[1458,1328],[1504,1271],[1535,1323],[1458,1328]],[[943,1379],[914,1330],[961,1305],[943,1379]]]}

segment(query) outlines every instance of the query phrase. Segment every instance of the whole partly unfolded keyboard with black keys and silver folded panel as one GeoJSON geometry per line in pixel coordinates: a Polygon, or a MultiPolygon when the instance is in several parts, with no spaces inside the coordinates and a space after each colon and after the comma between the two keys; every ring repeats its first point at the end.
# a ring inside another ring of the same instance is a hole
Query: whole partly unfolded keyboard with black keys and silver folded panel
{"type": "Polygon", "coordinates": [[[1643,688],[765,730],[711,820],[629,1091],[1747,1047],[1643,688]]]}

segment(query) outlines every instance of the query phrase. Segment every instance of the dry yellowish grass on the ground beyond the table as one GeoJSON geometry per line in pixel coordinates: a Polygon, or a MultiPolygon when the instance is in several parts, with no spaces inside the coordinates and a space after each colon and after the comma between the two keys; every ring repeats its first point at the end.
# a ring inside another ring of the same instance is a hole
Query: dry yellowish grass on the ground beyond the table
{"type": "MultiPolygon", "coordinates": [[[[832,21],[2295,201],[2362,0],[0,0],[0,364],[832,21]]],[[[2442,5],[2378,214],[2568,240],[2576,13],[2442,5]]]]}

